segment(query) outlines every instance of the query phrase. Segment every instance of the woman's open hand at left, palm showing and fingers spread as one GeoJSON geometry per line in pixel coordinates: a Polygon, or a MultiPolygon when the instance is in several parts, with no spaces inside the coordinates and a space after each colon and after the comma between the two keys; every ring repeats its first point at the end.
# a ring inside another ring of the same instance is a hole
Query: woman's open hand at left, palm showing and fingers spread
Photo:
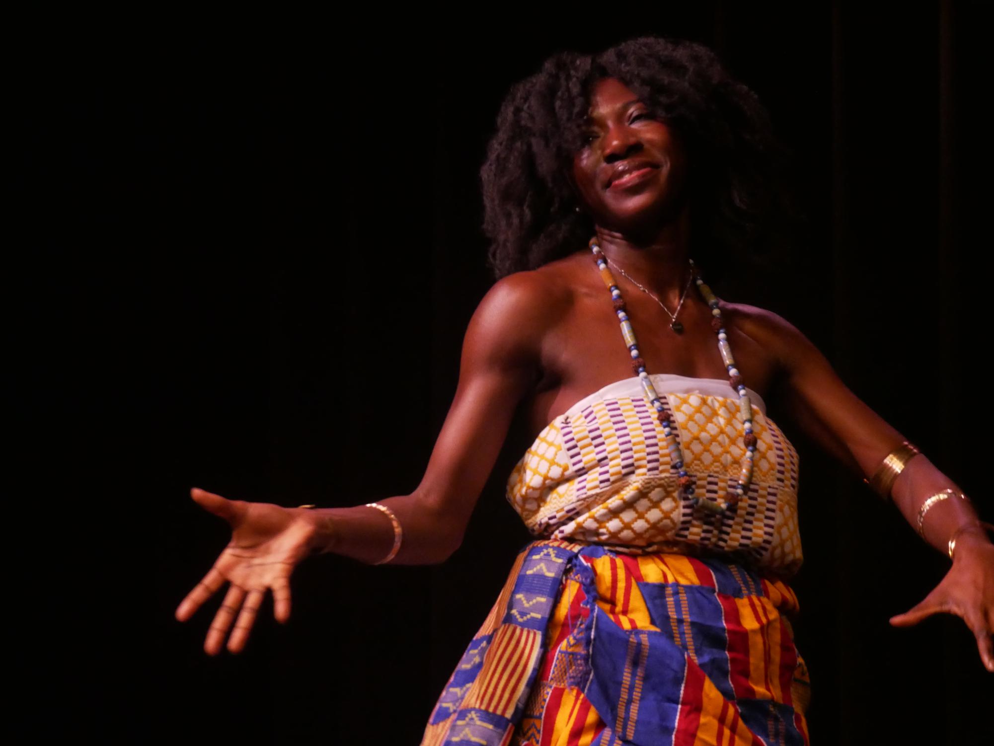
{"type": "Polygon", "coordinates": [[[228,650],[241,653],[266,588],[272,589],[276,621],[284,623],[289,619],[290,573],[312,552],[315,524],[307,509],[227,500],[197,488],[190,491],[190,497],[231,524],[232,540],[211,571],[177,607],[176,619],[188,620],[226,581],[230,582],[228,594],[207,633],[204,651],[209,656],[221,651],[237,615],[228,650]]]}

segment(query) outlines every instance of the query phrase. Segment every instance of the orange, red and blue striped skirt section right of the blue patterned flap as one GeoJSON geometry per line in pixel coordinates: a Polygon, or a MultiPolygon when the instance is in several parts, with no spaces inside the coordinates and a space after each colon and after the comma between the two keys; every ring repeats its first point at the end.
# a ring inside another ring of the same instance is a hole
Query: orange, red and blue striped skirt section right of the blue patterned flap
{"type": "Polygon", "coordinates": [[[578,639],[589,614],[582,579],[570,574],[511,746],[808,744],[810,682],[789,621],[797,598],[783,581],[720,558],[598,547],[581,559],[602,616],[594,641],[620,632],[601,651],[623,662],[616,698],[605,697],[611,686],[598,685],[588,641],[578,639]],[[718,613],[710,622],[709,611],[718,613]],[[674,674],[670,690],[658,688],[667,677],[653,666],[674,674]]]}

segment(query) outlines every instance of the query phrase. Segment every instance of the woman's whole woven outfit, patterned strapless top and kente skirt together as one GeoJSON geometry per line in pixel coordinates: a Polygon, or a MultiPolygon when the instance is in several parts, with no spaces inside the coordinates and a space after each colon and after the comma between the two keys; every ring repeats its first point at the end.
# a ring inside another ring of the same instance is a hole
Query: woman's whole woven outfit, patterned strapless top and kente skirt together
{"type": "MultiPolygon", "coordinates": [[[[698,494],[724,496],[742,423],[727,381],[656,374],[698,494]],[[724,385],[724,388],[722,387],[724,385]]],[[[431,713],[422,746],[807,744],[793,644],[797,454],[750,392],[758,439],[726,516],[682,503],[637,378],[587,396],[515,467],[537,540],[431,713]]]]}

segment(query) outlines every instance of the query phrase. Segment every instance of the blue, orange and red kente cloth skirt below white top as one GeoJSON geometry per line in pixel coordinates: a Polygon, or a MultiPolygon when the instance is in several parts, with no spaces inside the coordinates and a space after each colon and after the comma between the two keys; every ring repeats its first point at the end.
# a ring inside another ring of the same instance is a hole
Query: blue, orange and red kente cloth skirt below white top
{"type": "Polygon", "coordinates": [[[797,611],[783,580],[725,557],[534,541],[421,746],[807,746],[797,611]]]}

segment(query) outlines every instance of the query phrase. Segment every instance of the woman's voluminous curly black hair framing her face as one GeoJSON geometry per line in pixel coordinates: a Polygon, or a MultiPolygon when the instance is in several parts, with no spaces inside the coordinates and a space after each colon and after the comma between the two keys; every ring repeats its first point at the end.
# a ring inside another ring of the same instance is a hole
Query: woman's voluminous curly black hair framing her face
{"type": "Polygon", "coordinates": [[[783,248],[783,228],[799,211],[786,182],[789,154],[766,109],[707,47],[648,36],[596,55],[558,52],[509,90],[480,170],[483,232],[497,278],[586,247],[593,224],[577,212],[568,174],[590,92],[603,77],[624,82],[683,136],[691,256],[710,278],[720,281],[723,270],[754,267],[783,248]]]}

